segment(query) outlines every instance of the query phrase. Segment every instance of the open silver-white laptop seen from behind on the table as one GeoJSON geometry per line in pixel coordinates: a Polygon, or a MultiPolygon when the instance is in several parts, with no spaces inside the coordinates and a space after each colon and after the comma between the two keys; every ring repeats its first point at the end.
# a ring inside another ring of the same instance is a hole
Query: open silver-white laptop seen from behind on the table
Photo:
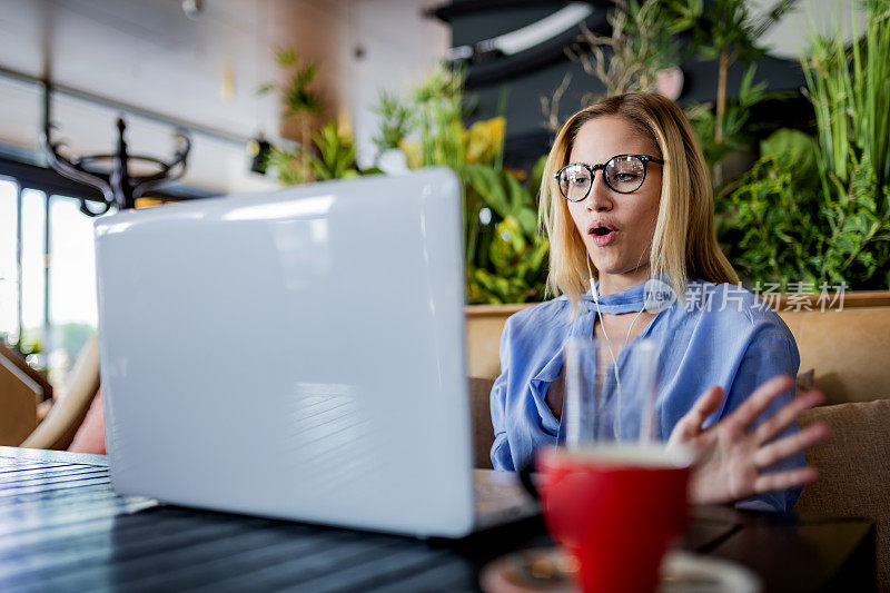
{"type": "Polygon", "coordinates": [[[417,536],[532,513],[478,471],[476,513],[462,235],[446,169],[97,220],[116,491],[417,536]]]}

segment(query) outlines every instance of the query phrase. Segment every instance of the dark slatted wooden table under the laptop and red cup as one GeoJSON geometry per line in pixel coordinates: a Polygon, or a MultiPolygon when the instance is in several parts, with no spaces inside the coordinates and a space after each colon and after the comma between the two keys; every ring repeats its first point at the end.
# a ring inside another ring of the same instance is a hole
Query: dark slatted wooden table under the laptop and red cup
{"type": "MultiPolygon", "coordinates": [[[[550,545],[541,518],[417,541],[117,496],[105,456],[0,447],[0,591],[473,591],[493,559],[550,545]]],[[[871,522],[693,510],[681,546],[765,591],[874,589],[871,522]]]]}

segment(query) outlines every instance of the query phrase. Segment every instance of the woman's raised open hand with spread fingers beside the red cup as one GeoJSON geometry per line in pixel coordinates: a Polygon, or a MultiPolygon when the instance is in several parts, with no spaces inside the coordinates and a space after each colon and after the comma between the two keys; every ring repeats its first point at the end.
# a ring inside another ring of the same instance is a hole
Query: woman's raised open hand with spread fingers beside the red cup
{"type": "Polygon", "coordinates": [[[676,423],[669,439],[669,446],[682,443],[695,451],[690,502],[718,504],[741,501],[756,494],[802,486],[817,478],[813,467],[764,473],[822,441],[829,433],[827,425],[815,424],[777,439],[801,412],[824,401],[818,391],[799,394],[754,427],[770,405],[792,386],[791,377],[774,377],[761,385],[732,414],[708,428],[702,424],[720,408],[723,389],[712,387],[699,397],[692,409],[676,423]]]}

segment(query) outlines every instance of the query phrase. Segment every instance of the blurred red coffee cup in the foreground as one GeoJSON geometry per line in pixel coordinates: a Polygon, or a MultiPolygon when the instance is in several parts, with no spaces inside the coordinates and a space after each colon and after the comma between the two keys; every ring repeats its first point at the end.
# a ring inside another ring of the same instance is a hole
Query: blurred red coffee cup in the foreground
{"type": "Polygon", "coordinates": [[[544,520],[578,561],[586,593],[646,592],[686,523],[690,457],[660,445],[543,448],[537,455],[544,520]]]}

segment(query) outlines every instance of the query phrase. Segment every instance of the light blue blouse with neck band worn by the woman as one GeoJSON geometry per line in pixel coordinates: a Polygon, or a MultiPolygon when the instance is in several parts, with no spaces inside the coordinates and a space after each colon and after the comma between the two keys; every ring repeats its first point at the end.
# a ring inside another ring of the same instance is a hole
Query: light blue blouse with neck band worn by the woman
{"type": "MultiPolygon", "coordinates": [[[[640,310],[643,293],[644,285],[640,285],[601,296],[601,310],[604,314],[640,310]]],[[[544,397],[548,385],[562,370],[566,339],[593,335],[596,308],[590,293],[575,318],[570,319],[570,303],[563,296],[516,313],[504,326],[501,375],[491,397],[495,433],[491,455],[495,470],[521,467],[532,458],[536,447],[564,438],[565,428],[544,397]]],[[[620,347],[624,336],[610,337],[615,347],[620,347]]],[[[711,424],[739,407],[768,379],[780,374],[794,377],[800,366],[794,337],[784,322],[763,300],[730,284],[690,281],[685,295],[662,308],[629,346],[644,338],[653,340],[659,352],[655,429],[661,439],[670,436],[674,425],[708,388],[719,385],[726,393],[722,407],[706,423],[711,424]]],[[[609,416],[604,424],[613,426],[620,435],[639,434],[640,402],[634,402],[633,397],[640,389],[631,384],[635,376],[633,362],[629,359],[632,353],[633,348],[623,348],[615,359],[622,378],[623,405],[614,397],[611,364],[604,377],[606,395],[602,413],[609,416]],[[619,408],[621,417],[615,422],[619,408]]],[[[793,397],[792,389],[763,417],[793,397]]],[[[565,414],[561,417],[565,418],[565,414]]],[[[797,426],[791,431],[797,431],[797,426]]],[[[772,471],[803,465],[800,454],[772,471]]],[[[795,488],[756,500],[775,510],[790,511],[799,493],[795,488]]]]}

